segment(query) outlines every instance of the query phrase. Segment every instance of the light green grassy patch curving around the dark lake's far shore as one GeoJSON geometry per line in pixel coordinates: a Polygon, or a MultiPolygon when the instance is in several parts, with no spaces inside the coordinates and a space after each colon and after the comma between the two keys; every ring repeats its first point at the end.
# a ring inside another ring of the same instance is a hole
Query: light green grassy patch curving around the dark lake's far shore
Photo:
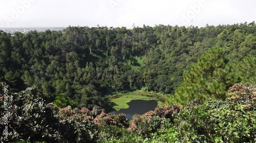
{"type": "Polygon", "coordinates": [[[109,102],[114,104],[113,108],[115,110],[127,109],[129,105],[127,103],[132,100],[157,100],[158,105],[162,105],[165,102],[160,94],[144,92],[144,91],[134,91],[129,93],[117,93],[115,95],[108,96],[109,102]]]}

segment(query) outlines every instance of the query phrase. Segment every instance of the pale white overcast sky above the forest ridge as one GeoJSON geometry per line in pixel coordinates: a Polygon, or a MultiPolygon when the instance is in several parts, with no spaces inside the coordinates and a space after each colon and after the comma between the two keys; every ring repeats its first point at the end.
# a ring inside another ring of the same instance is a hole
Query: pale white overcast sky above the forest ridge
{"type": "Polygon", "coordinates": [[[255,21],[255,6],[254,0],[0,0],[0,27],[201,27],[255,21]]]}

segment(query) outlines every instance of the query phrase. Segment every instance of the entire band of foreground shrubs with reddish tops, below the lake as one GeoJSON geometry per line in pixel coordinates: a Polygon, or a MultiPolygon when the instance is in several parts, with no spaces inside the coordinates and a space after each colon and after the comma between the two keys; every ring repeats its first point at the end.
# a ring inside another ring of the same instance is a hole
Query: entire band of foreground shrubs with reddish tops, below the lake
{"type": "MultiPolygon", "coordinates": [[[[0,84],[2,92],[5,86],[0,84]]],[[[233,85],[224,101],[158,106],[130,124],[122,113],[112,115],[97,106],[58,109],[46,104],[35,88],[9,95],[7,117],[1,108],[1,124],[8,119],[8,135],[1,139],[9,142],[256,141],[256,84],[233,85]]],[[[4,129],[0,126],[1,132],[4,129]]]]}

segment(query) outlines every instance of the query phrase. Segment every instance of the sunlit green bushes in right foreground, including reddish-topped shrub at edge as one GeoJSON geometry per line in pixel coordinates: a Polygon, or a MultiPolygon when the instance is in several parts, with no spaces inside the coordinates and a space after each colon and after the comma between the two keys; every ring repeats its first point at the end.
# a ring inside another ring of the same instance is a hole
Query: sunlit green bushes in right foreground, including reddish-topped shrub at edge
{"type": "Polygon", "coordinates": [[[180,140],[254,142],[255,84],[233,85],[226,101],[195,101],[175,115],[180,140]],[[191,106],[192,105],[192,106],[191,106]]]}

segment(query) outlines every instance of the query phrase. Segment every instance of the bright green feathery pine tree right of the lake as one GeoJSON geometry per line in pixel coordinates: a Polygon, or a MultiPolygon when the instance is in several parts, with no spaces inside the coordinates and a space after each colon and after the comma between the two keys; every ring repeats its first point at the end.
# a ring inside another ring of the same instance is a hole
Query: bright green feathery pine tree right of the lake
{"type": "Polygon", "coordinates": [[[223,48],[209,49],[184,76],[183,83],[175,91],[175,101],[185,105],[192,99],[225,99],[227,89],[238,81],[233,71],[223,48]]]}

